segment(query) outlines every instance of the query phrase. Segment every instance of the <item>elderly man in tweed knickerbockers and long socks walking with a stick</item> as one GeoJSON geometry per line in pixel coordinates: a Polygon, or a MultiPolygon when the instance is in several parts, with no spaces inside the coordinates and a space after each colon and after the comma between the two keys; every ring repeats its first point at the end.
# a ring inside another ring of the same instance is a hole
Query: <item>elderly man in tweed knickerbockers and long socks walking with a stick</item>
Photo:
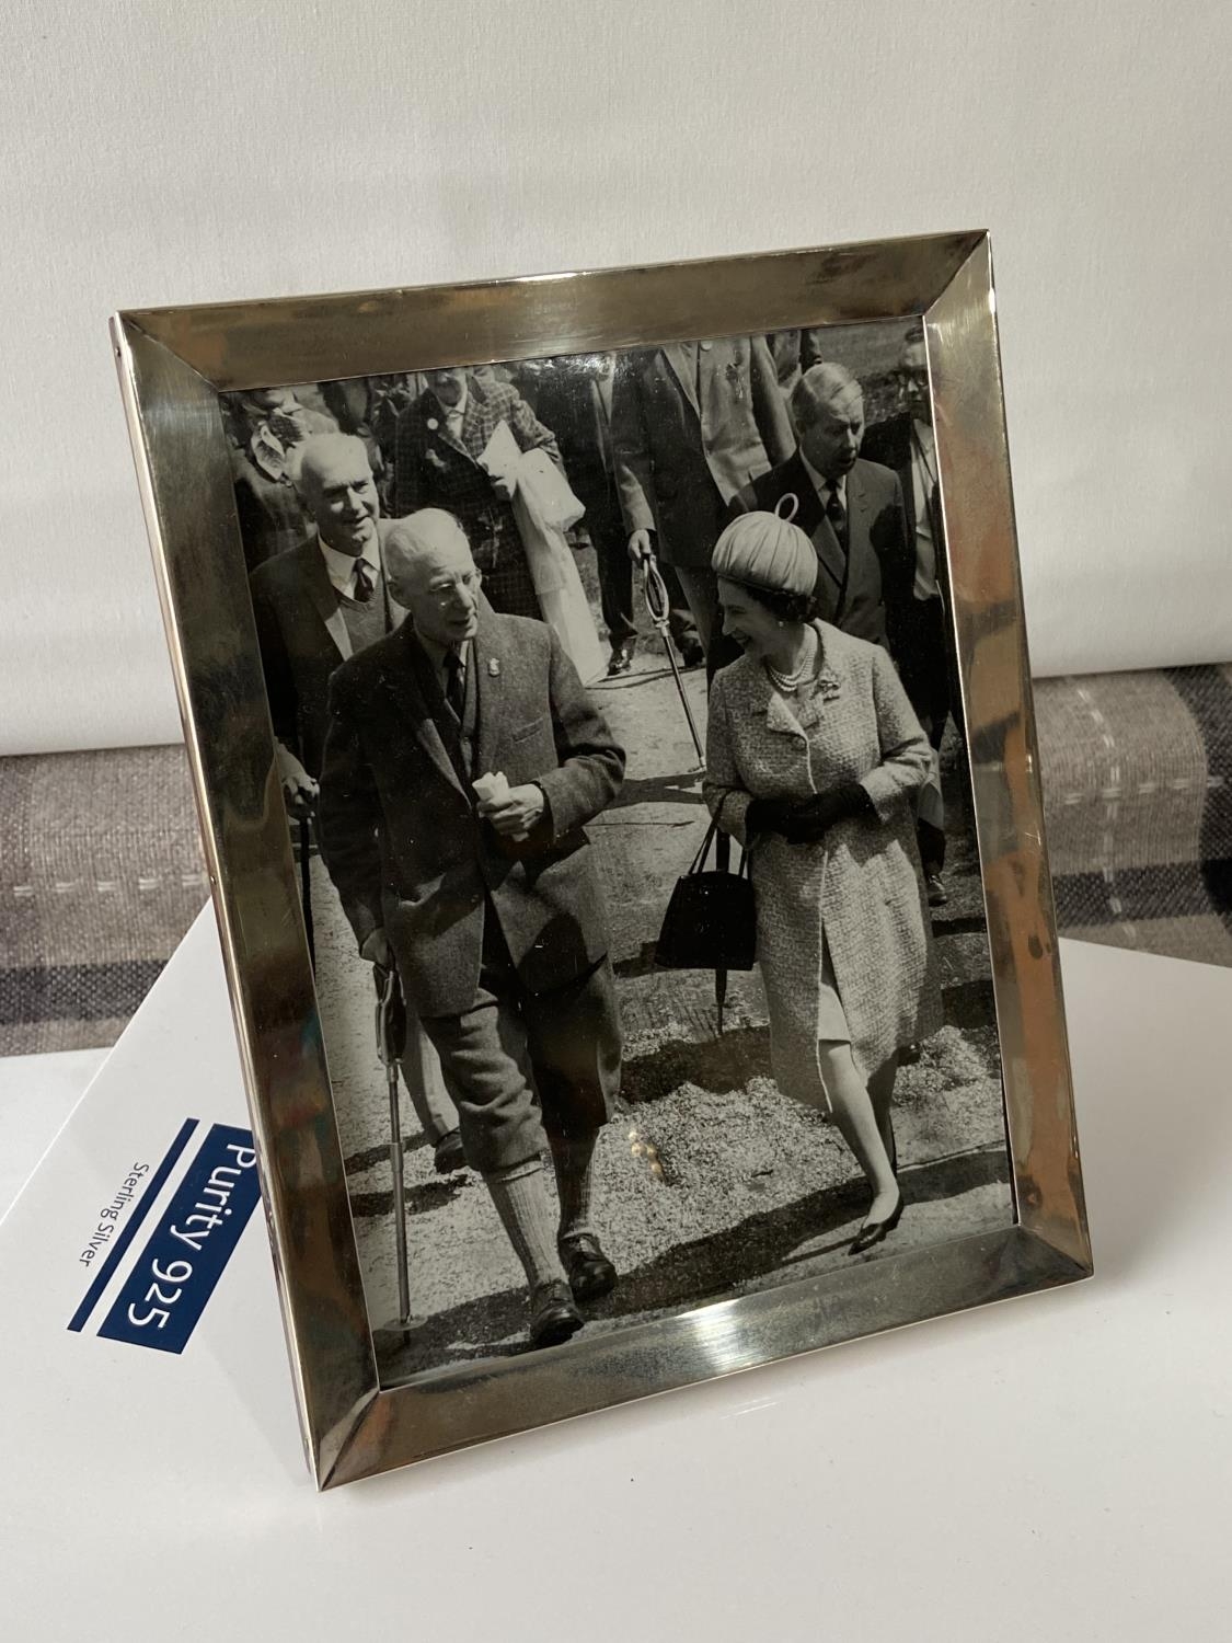
{"type": "Polygon", "coordinates": [[[616,1282],[590,1198],[621,1038],[583,825],[624,752],[552,631],[481,596],[452,514],[399,521],[386,564],[409,619],[330,685],[322,848],[360,953],[419,1007],[550,1346],[616,1282]]]}

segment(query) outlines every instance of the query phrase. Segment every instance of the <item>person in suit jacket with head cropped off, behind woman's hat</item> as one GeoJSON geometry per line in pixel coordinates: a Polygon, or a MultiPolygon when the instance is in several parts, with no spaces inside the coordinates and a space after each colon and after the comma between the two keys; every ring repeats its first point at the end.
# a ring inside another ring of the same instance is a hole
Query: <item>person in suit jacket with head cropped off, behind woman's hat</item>
{"type": "Polygon", "coordinates": [[[654,552],[675,570],[713,672],[721,621],[711,550],[731,499],[795,449],[765,338],[626,355],[611,430],[629,554],[654,552]]]}

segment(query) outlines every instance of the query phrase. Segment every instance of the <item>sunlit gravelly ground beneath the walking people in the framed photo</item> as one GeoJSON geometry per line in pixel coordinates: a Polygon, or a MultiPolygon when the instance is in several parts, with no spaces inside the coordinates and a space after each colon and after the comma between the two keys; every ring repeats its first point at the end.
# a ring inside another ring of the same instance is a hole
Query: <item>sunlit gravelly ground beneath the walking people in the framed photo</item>
{"type": "MultiPolygon", "coordinates": [[[[685,685],[705,738],[705,679],[690,674],[685,685]]],[[[629,679],[596,690],[629,749],[621,798],[590,830],[626,1033],[621,1112],[598,1153],[600,1221],[623,1282],[588,1329],[608,1329],[846,1263],[867,1188],[838,1132],[782,1098],[769,1076],[756,971],[731,978],[718,1037],[713,978],[652,968],[662,910],[705,826],[700,774],[670,674],[650,644],[629,679]]],[[[396,1313],[396,1277],[371,983],[322,872],[315,884],[325,1042],[368,1306],[379,1326],[396,1313]]],[[[935,920],[946,1025],[922,1061],[900,1073],[897,1089],[908,1209],[866,1260],[1012,1216],[982,897],[961,828],[951,838],[948,884],[949,905],[935,920]]],[[[425,1323],[384,1357],[389,1378],[519,1351],[526,1329],[521,1268],[483,1186],[471,1173],[432,1173],[406,1099],[402,1124],[412,1308],[425,1323]]]]}

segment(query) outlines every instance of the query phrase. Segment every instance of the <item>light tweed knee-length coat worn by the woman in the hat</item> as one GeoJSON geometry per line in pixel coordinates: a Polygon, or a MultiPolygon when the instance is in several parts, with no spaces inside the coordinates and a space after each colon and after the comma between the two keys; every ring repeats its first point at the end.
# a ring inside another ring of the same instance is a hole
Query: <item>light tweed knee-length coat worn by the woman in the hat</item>
{"type": "Polygon", "coordinates": [[[857,780],[877,812],[836,823],[815,845],[765,833],[752,846],[774,1073],[784,1093],[815,1106],[823,948],[866,1078],[936,1032],[941,996],[915,845],[928,738],[885,651],[828,623],[813,628],[821,669],[795,708],[752,657],[715,675],[705,795],[741,843],[752,798],[808,798],[857,780]]]}

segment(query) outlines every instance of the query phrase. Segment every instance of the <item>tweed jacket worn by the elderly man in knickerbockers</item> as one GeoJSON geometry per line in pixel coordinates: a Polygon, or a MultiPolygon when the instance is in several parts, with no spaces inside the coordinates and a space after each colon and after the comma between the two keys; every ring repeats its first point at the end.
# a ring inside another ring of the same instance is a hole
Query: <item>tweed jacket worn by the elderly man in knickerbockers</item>
{"type": "Polygon", "coordinates": [[[583,826],[619,792],[624,751],[555,634],[485,603],[468,664],[473,774],[503,771],[547,797],[524,845],[498,841],[440,733],[444,700],[429,700],[419,649],[406,623],[333,675],[322,853],[360,945],[384,927],[419,1015],[458,1015],[475,1002],[485,900],[532,992],[608,951],[583,826]]]}

